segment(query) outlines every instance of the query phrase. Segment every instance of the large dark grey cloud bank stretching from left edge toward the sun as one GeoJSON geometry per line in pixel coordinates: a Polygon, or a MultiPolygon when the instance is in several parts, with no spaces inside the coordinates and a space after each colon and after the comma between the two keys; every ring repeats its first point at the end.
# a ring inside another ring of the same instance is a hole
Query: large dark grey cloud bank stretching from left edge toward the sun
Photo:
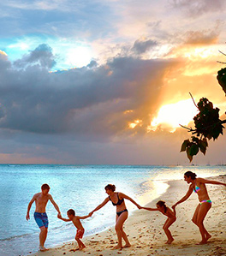
{"type": "Polygon", "coordinates": [[[116,57],[106,65],[50,73],[51,48],[39,45],[15,66],[1,58],[0,127],[37,134],[117,134],[158,104],[170,61],[116,57]],[[17,67],[20,68],[17,68],[17,67]],[[133,110],[125,115],[125,110],[133,110]]]}

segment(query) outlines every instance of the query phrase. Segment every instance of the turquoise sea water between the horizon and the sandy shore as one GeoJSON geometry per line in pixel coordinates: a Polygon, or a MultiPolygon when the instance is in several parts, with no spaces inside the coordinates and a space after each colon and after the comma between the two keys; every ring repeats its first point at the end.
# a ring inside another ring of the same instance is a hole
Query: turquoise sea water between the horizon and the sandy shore
{"type": "MultiPolygon", "coordinates": [[[[43,183],[51,187],[51,195],[66,217],[73,208],[77,215],[86,215],[107,196],[104,187],[116,185],[116,191],[128,194],[140,205],[164,193],[169,180],[183,179],[187,170],[198,176],[226,174],[226,166],[148,166],[148,165],[34,165],[0,164],[0,255],[27,255],[39,247],[39,227],[33,219],[26,220],[27,205],[34,193],[40,192],[43,183]]],[[[136,209],[126,202],[129,214],[136,209]]],[[[82,221],[85,235],[100,232],[112,226],[116,209],[107,204],[92,217],[82,221]]],[[[71,223],[57,219],[51,202],[46,207],[49,217],[49,234],[46,247],[53,247],[74,239],[71,223]]]]}

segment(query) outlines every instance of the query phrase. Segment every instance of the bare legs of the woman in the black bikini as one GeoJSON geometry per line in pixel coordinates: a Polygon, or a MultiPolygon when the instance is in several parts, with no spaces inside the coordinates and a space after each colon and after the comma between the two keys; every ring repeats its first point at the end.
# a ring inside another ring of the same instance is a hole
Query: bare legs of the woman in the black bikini
{"type": "Polygon", "coordinates": [[[124,241],[126,241],[126,245],[125,247],[130,247],[130,243],[128,241],[128,237],[126,235],[126,233],[123,230],[123,223],[126,221],[126,219],[128,218],[128,211],[124,211],[122,212],[122,214],[118,217],[116,216],[116,234],[117,234],[117,238],[118,238],[118,244],[115,247],[116,249],[122,249],[122,237],[124,239],[124,241]]]}

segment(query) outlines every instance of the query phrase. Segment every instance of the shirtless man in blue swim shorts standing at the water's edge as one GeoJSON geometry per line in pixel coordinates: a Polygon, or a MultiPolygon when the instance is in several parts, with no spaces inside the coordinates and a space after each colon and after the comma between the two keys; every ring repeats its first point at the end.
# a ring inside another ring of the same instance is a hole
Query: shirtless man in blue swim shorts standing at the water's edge
{"type": "Polygon", "coordinates": [[[45,212],[45,206],[47,205],[48,201],[51,200],[51,203],[54,205],[56,211],[58,211],[58,214],[61,216],[61,211],[59,210],[58,205],[56,205],[56,202],[54,199],[52,199],[50,191],[50,186],[48,184],[43,184],[41,187],[42,191],[40,193],[35,193],[33,195],[33,199],[31,199],[30,203],[27,206],[27,220],[30,219],[30,209],[33,205],[33,202],[35,201],[35,212],[33,214],[33,217],[36,221],[36,223],[39,226],[40,229],[40,235],[39,235],[39,249],[41,252],[45,252],[46,249],[44,244],[48,233],[48,217],[45,212]]]}

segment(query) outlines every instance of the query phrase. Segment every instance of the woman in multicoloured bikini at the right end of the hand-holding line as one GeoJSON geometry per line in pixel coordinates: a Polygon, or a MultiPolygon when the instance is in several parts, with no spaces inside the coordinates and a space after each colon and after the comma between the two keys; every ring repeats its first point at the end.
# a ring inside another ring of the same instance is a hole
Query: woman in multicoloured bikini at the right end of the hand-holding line
{"type": "Polygon", "coordinates": [[[184,174],[184,180],[187,182],[187,184],[191,183],[186,195],[181,198],[175,205],[172,206],[174,209],[176,205],[181,204],[185,200],[189,198],[189,196],[193,193],[197,193],[199,198],[199,205],[197,206],[196,210],[193,214],[193,223],[195,223],[199,227],[200,234],[202,236],[202,240],[199,242],[199,244],[205,244],[208,239],[211,238],[211,235],[207,232],[207,230],[204,227],[204,219],[207,214],[207,212],[211,209],[211,199],[207,193],[207,189],[205,187],[205,184],[214,184],[214,185],[223,185],[226,186],[223,182],[215,182],[215,181],[208,181],[203,178],[196,178],[196,174],[192,171],[187,171],[184,174]]]}

